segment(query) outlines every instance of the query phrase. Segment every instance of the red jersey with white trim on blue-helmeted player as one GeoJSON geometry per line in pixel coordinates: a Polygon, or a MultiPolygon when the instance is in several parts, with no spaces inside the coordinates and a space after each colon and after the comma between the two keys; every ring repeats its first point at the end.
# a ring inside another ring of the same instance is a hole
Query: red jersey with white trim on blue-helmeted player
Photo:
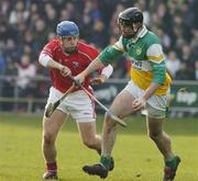
{"type": "MultiPolygon", "coordinates": [[[[78,42],[77,52],[67,55],[62,49],[59,41],[52,39],[44,46],[41,54],[46,54],[52,57],[53,60],[67,66],[72,71],[72,76],[74,77],[84,71],[88,65],[99,55],[99,52],[90,45],[78,42]]],[[[50,75],[53,87],[61,92],[65,92],[73,84],[70,78],[63,77],[57,69],[50,69],[50,75]]],[[[89,76],[85,79],[84,87],[86,89],[89,87],[89,76]]]]}

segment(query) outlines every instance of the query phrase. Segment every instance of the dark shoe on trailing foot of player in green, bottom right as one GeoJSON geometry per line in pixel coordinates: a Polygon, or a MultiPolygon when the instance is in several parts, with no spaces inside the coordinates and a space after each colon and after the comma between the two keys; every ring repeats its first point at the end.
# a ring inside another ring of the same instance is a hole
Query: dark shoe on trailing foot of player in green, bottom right
{"type": "Polygon", "coordinates": [[[164,180],[163,181],[173,181],[174,180],[178,165],[180,162],[180,158],[178,156],[176,156],[175,159],[176,159],[176,166],[174,168],[173,167],[164,168],[164,180]]]}

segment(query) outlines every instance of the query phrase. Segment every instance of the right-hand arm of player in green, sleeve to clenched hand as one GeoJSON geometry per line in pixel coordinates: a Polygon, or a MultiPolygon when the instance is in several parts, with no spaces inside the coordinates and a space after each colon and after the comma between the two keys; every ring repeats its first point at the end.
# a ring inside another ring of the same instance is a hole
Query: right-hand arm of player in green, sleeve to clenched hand
{"type": "Polygon", "coordinates": [[[140,110],[145,105],[146,101],[155,93],[160,86],[164,84],[166,78],[166,66],[165,57],[160,44],[152,45],[146,55],[150,59],[152,71],[153,71],[153,81],[150,87],[145,90],[145,93],[142,98],[136,99],[133,102],[133,109],[140,110]]]}

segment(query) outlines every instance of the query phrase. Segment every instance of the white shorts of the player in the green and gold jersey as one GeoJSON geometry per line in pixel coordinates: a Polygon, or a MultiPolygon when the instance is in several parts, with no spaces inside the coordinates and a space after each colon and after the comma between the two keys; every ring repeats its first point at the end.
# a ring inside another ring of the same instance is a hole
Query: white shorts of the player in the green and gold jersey
{"type": "MultiPolygon", "coordinates": [[[[131,93],[135,99],[141,98],[145,92],[133,81],[129,81],[124,90],[131,93]]],[[[152,95],[146,102],[145,110],[142,110],[142,114],[153,118],[164,118],[168,105],[168,93],[169,91],[167,91],[166,95],[152,95]]]]}

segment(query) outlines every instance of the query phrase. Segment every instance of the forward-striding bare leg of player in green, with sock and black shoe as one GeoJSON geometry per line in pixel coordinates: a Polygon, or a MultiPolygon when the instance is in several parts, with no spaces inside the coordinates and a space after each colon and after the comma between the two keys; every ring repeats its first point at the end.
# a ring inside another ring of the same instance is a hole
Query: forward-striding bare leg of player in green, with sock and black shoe
{"type": "MultiPolygon", "coordinates": [[[[110,106],[111,112],[120,117],[124,117],[133,112],[132,101],[134,97],[127,90],[122,90],[114,99],[110,106]]],[[[88,174],[97,174],[100,178],[106,178],[108,171],[112,170],[111,152],[116,143],[117,124],[111,117],[106,114],[102,129],[102,154],[100,162],[94,166],[85,166],[82,169],[88,174]]]]}

